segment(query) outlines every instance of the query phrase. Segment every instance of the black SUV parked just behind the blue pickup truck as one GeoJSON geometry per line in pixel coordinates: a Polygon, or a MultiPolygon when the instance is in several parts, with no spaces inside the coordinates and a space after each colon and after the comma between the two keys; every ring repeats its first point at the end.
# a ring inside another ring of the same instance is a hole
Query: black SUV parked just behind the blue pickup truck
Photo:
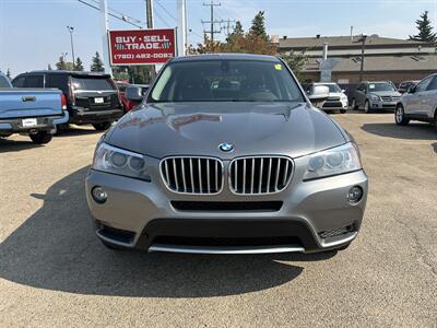
{"type": "Polygon", "coordinates": [[[106,130],[123,115],[118,89],[110,75],[78,71],[32,71],[17,75],[15,87],[56,87],[67,97],[69,124],[92,124],[106,130]]]}

